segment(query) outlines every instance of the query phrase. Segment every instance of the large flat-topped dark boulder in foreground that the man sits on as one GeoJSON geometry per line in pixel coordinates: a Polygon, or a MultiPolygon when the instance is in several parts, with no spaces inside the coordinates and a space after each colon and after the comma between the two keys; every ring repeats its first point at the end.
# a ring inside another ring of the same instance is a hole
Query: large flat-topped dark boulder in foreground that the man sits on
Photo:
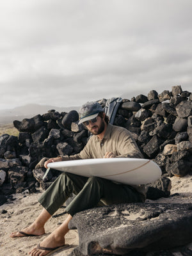
{"type": "Polygon", "coordinates": [[[191,242],[191,209],[192,204],[97,207],[75,214],[69,228],[78,229],[84,255],[127,255],[138,248],[143,252],[168,250],[191,242]]]}

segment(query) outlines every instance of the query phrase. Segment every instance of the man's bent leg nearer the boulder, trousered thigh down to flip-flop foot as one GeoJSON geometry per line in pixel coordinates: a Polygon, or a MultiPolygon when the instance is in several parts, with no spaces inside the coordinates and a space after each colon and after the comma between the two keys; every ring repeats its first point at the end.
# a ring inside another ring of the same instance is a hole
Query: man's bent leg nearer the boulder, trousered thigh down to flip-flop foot
{"type": "MultiPolygon", "coordinates": [[[[68,173],[67,173],[68,175],[68,173]]],[[[70,175],[68,175],[70,176],[70,175]]],[[[74,190],[75,191],[75,190],[74,190]]],[[[76,192],[76,191],[75,191],[76,192]]],[[[65,234],[68,232],[68,223],[72,216],[79,211],[96,206],[100,199],[106,204],[119,204],[125,202],[140,202],[140,196],[134,189],[122,184],[115,184],[110,180],[91,177],[87,180],[81,191],[67,206],[67,219],[40,243],[40,246],[54,248],[65,244],[65,234]]],[[[47,250],[34,248],[29,252],[31,256],[46,255],[47,250]]]]}

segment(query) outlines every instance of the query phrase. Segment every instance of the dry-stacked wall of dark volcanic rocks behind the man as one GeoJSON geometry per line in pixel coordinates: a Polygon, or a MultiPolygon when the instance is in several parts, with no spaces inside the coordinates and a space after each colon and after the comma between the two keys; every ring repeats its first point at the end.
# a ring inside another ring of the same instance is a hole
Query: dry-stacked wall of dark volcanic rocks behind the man
{"type": "MultiPolygon", "coordinates": [[[[106,99],[98,101],[104,108],[106,99]]],[[[46,189],[60,172],[49,172],[43,180],[45,159],[77,154],[86,145],[90,134],[78,125],[78,118],[77,111],[58,113],[52,109],[22,122],[15,120],[13,125],[19,130],[19,137],[0,137],[1,195],[26,189],[33,192],[38,186],[46,189]]],[[[192,93],[173,86],[172,92],[164,90],[158,94],[152,90],[147,96],[123,99],[114,125],[131,131],[143,156],[161,167],[162,180],[148,184],[148,198],[159,196],[154,191],[159,186],[161,196],[168,196],[168,177],[191,172],[192,93]]]]}

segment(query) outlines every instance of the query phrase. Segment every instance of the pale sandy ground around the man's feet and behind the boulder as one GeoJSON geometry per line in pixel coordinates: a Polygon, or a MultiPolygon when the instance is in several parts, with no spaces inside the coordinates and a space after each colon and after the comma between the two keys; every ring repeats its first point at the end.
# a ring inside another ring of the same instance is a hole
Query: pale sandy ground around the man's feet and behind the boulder
{"type": "MultiPolygon", "coordinates": [[[[146,202],[158,202],[167,204],[188,204],[192,202],[192,176],[186,175],[185,177],[178,178],[172,177],[172,189],[171,194],[168,198],[159,198],[158,200],[147,200],[146,202]]],[[[33,221],[36,216],[42,210],[42,207],[38,204],[37,199],[42,191],[38,193],[24,195],[22,193],[13,195],[13,201],[10,200],[8,203],[1,205],[0,207],[0,229],[1,229],[1,239],[0,239],[0,256],[21,256],[28,255],[29,250],[33,248],[36,244],[40,243],[44,236],[47,236],[55,227],[60,225],[60,223],[66,218],[66,215],[62,215],[65,208],[61,207],[58,212],[56,212],[56,218],[51,218],[46,225],[46,234],[42,237],[22,237],[11,239],[9,237],[10,233],[14,230],[20,230],[26,227],[33,221]],[[60,215],[61,214],[61,215],[60,215]]],[[[70,230],[66,236],[66,243],[70,244],[67,250],[61,250],[56,252],[54,255],[65,256],[70,255],[74,248],[79,244],[77,230],[70,230]]],[[[189,245],[190,250],[192,250],[192,244],[189,245]],[[191,247],[190,247],[191,246],[191,247]]],[[[181,256],[180,252],[172,252],[174,256],[181,256]]]]}

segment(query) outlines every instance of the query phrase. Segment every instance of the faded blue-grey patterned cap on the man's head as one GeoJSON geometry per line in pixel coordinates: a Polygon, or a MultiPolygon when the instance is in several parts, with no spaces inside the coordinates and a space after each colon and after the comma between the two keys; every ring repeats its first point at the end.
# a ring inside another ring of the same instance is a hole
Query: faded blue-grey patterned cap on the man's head
{"type": "Polygon", "coordinates": [[[99,112],[102,111],[102,106],[100,106],[99,102],[86,102],[79,109],[79,124],[97,117],[99,112]]]}

